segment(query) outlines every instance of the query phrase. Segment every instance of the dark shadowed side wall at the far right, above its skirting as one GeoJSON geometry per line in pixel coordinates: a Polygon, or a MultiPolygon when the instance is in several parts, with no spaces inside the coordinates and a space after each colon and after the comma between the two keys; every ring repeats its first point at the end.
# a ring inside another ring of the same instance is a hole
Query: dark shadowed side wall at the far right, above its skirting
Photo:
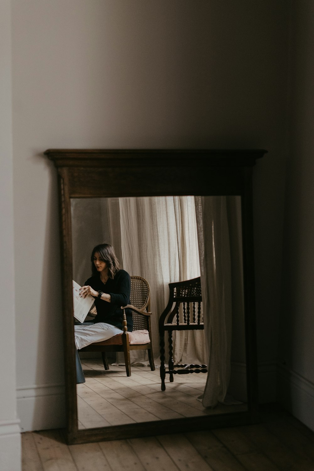
{"type": "Polygon", "coordinates": [[[314,3],[294,1],[278,397],[314,430],[314,3]]]}

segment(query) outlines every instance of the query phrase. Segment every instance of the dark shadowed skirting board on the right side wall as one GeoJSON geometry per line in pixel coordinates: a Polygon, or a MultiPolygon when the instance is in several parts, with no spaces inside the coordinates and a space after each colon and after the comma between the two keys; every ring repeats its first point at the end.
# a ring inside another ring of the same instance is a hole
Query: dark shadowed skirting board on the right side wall
{"type": "Polygon", "coordinates": [[[277,401],[314,431],[314,383],[285,365],[278,365],[277,372],[277,401]]]}

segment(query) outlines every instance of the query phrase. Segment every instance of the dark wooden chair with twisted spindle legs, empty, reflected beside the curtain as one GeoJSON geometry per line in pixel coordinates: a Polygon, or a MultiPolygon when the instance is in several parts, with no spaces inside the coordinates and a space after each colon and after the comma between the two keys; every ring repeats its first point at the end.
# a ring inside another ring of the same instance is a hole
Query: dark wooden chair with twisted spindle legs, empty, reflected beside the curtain
{"type": "Polygon", "coordinates": [[[169,302],[159,319],[161,390],[166,389],[165,378],[173,382],[174,374],[207,373],[207,365],[174,365],[173,331],[204,329],[201,307],[201,278],[169,283],[169,302]],[[165,367],[165,333],[168,332],[169,362],[165,367]]]}

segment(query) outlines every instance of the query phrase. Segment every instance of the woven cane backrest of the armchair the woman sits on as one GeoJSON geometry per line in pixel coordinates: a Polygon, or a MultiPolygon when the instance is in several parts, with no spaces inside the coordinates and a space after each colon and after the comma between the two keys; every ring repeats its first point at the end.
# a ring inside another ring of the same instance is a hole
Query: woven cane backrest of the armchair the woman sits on
{"type": "MultiPolygon", "coordinates": [[[[150,292],[151,288],[149,283],[141,276],[131,276],[131,294],[130,304],[137,309],[145,309],[146,312],[150,311],[150,292]]],[[[133,331],[135,330],[148,330],[148,317],[141,316],[132,311],[133,316],[133,331]]]]}

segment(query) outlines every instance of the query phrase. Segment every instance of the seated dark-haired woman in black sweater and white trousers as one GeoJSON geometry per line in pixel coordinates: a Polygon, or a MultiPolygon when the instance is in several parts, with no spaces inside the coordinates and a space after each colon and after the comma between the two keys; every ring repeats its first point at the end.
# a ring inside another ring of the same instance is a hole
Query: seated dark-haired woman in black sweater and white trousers
{"type": "MultiPolygon", "coordinates": [[[[93,325],[75,325],[75,345],[82,349],[91,343],[110,339],[122,333],[123,310],[130,303],[131,280],[129,273],[120,270],[113,246],[99,244],[94,247],[91,258],[92,276],[80,289],[80,296],[95,298],[97,315],[93,325]]],[[[131,309],[125,309],[128,332],[132,332],[131,309]]]]}

